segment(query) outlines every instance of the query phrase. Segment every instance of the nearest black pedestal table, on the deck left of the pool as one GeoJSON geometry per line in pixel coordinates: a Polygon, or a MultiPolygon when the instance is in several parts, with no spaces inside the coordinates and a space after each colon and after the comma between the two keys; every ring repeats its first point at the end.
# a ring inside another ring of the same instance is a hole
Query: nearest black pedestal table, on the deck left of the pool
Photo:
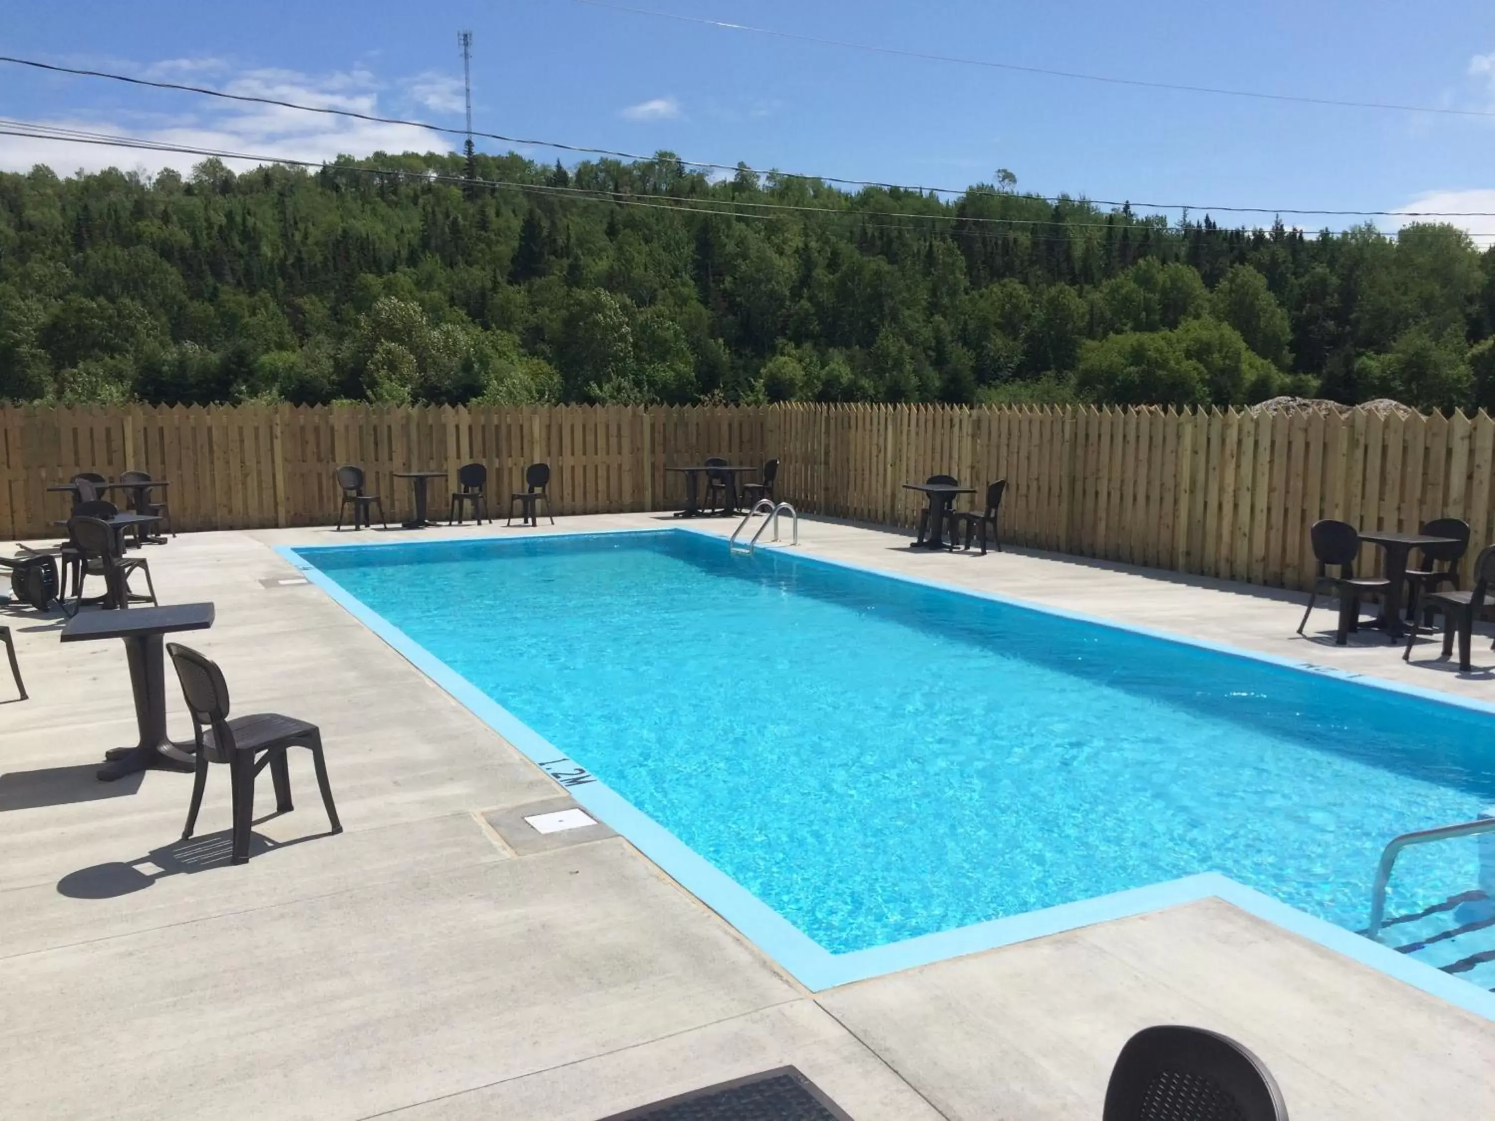
{"type": "Polygon", "coordinates": [[[166,659],[161,653],[161,635],[205,631],[212,626],[212,604],[172,604],[133,611],[85,611],[67,620],[63,628],[64,643],[123,638],[130,662],[135,722],[141,729],[141,741],[135,747],[106,752],[105,765],[97,771],[100,782],[114,782],[152,767],[163,771],[193,770],[194,747],[182,747],[166,738],[166,659]]]}

